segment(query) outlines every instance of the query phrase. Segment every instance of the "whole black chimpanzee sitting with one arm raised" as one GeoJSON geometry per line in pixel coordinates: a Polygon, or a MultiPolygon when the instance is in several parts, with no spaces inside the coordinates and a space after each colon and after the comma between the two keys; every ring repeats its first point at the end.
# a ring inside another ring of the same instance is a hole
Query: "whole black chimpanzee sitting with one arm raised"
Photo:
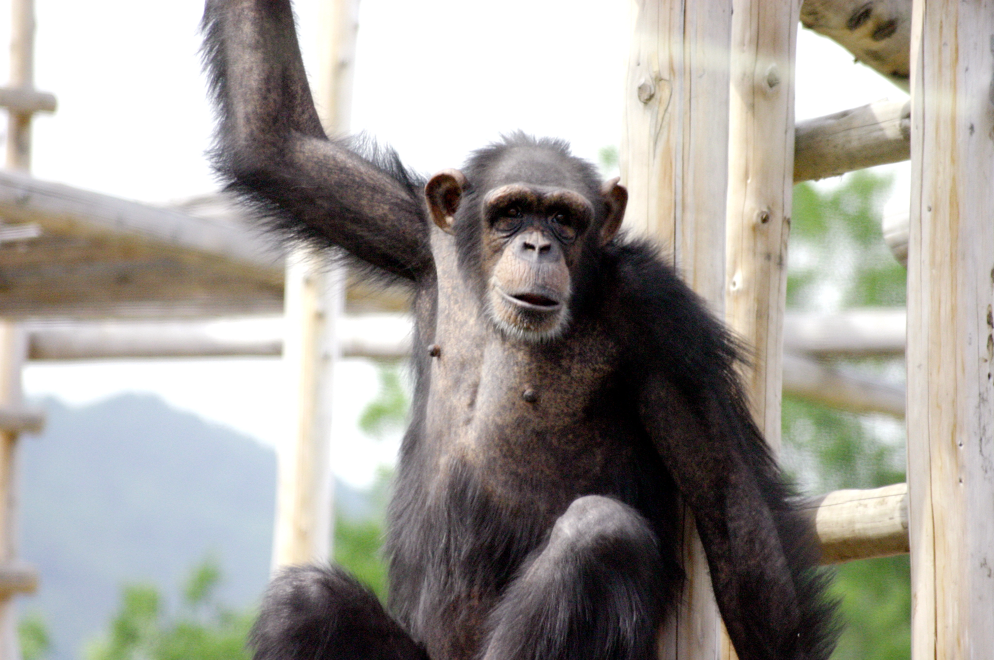
{"type": "Polygon", "coordinates": [[[406,283],[415,319],[393,615],[340,569],[287,569],[255,658],[651,658],[683,579],[678,497],[739,657],[827,658],[826,578],[747,411],[741,348],[656,248],[618,235],[618,180],[516,133],[424,181],[326,137],[289,0],[209,0],[204,31],[230,189],[406,283]]]}

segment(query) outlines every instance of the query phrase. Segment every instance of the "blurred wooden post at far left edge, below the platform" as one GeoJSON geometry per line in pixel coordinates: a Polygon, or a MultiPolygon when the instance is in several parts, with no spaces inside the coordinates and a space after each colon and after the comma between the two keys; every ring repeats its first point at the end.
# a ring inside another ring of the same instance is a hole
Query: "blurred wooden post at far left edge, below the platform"
{"type": "MultiPolygon", "coordinates": [[[[27,350],[23,328],[0,321],[0,405],[22,404],[21,370],[27,350]]],[[[0,566],[10,566],[17,558],[17,440],[17,432],[0,431],[0,566]]],[[[17,608],[13,593],[6,592],[0,594],[0,660],[19,657],[17,608]]]]}

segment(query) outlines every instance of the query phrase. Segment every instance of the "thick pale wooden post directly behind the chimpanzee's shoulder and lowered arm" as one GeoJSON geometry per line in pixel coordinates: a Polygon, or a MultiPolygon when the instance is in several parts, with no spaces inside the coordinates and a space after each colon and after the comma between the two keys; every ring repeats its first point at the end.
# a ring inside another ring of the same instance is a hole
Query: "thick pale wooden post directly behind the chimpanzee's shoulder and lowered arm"
{"type": "MultiPolygon", "coordinates": [[[[721,315],[725,286],[731,0],[634,0],[621,175],[626,226],[672,249],[721,315]]],[[[688,581],[661,632],[660,657],[715,660],[721,621],[704,550],[683,513],[688,581]]]]}

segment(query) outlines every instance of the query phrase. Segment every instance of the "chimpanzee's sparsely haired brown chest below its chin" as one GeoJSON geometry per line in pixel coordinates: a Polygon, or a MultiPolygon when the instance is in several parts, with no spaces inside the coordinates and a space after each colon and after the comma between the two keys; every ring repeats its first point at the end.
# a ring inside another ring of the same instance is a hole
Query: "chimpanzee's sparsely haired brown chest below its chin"
{"type": "Polygon", "coordinates": [[[436,485],[457,464],[502,500],[541,493],[559,509],[625,469],[634,409],[605,332],[580,322],[561,341],[535,344],[485,318],[453,320],[439,318],[424,411],[436,485]]]}

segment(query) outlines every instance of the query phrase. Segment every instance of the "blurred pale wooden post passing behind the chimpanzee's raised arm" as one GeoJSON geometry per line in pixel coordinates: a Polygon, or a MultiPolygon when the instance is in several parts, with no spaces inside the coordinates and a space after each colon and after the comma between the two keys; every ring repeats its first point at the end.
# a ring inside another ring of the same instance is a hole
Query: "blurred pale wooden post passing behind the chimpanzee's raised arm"
{"type": "MultiPolygon", "coordinates": [[[[322,0],[314,100],[325,131],[347,130],[358,2],[322,0]]],[[[296,411],[279,450],[273,568],[331,558],[334,474],[331,469],[332,369],[338,356],[335,319],[345,306],[344,271],[311,248],[289,255],[283,359],[296,411]]]]}

